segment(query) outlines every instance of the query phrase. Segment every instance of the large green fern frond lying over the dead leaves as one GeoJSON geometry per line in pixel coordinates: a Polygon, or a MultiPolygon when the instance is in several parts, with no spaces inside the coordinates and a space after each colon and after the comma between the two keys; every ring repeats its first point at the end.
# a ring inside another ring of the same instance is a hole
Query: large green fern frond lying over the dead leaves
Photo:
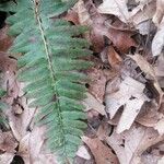
{"type": "Polygon", "coordinates": [[[86,127],[80,103],[86,77],[80,71],[91,66],[83,60],[91,51],[85,39],[75,37],[86,27],[55,19],[74,2],[17,0],[17,12],[7,21],[10,35],[16,36],[11,51],[22,54],[19,80],[26,82],[30,107],[38,108],[36,120],[47,126],[47,145],[61,163],[72,163],[86,127]]]}

